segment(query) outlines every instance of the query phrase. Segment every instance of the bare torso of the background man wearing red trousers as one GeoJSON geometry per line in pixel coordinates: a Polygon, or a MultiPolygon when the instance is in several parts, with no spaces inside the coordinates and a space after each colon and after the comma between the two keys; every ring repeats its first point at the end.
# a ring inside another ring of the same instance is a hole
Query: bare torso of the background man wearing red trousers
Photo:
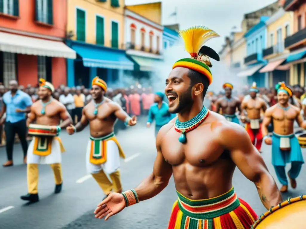
{"type": "Polygon", "coordinates": [[[244,100],[241,104],[241,108],[247,112],[247,117],[249,119],[260,119],[260,112],[264,107],[264,100],[258,97],[244,100]]]}

